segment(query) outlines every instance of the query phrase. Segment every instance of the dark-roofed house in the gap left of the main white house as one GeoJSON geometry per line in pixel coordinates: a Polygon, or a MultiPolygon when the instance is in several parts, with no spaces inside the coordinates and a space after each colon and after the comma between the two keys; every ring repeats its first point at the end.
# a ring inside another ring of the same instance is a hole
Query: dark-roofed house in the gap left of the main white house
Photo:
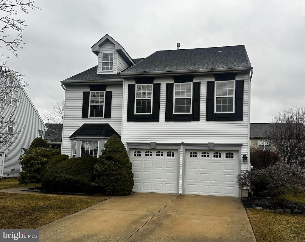
{"type": "Polygon", "coordinates": [[[63,124],[45,124],[45,140],[52,148],[61,149],[61,139],[63,135],[63,124]]]}

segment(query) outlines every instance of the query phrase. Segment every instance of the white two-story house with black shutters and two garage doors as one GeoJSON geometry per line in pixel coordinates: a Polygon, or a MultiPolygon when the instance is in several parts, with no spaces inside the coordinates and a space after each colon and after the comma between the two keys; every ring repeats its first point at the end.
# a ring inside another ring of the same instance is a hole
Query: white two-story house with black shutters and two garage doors
{"type": "Polygon", "coordinates": [[[63,154],[97,157],[117,134],[133,191],[243,196],[236,176],[250,169],[253,69],[243,45],[132,59],[106,34],[91,50],[98,65],[61,81],[63,154]]]}

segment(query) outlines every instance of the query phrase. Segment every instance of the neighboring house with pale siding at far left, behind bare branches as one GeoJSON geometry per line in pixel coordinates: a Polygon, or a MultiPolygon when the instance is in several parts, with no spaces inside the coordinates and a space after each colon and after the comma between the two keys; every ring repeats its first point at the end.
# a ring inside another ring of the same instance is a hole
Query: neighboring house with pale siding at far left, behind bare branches
{"type": "Polygon", "coordinates": [[[0,148],[0,177],[18,177],[22,171],[19,156],[30,147],[35,138],[44,138],[45,125],[22,86],[8,93],[4,108],[4,120],[8,120],[12,111],[15,120],[5,127],[6,131],[20,131],[20,134],[12,145],[0,148]]]}

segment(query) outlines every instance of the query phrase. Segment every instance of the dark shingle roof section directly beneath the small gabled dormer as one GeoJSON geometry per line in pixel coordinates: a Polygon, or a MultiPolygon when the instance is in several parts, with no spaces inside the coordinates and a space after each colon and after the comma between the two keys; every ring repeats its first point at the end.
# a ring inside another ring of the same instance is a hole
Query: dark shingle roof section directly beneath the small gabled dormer
{"type": "Polygon", "coordinates": [[[71,76],[64,81],[81,81],[81,80],[117,80],[123,79],[121,75],[118,74],[97,74],[97,65],[92,67],[84,72],[78,73],[74,76],[71,76]]]}

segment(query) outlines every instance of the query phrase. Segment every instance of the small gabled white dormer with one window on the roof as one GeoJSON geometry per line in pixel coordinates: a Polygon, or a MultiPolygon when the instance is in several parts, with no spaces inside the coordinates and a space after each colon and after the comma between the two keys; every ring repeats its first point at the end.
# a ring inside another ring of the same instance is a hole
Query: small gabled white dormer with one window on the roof
{"type": "Polygon", "coordinates": [[[95,43],[91,50],[99,57],[97,74],[119,73],[135,65],[124,48],[108,34],[95,43]]]}

